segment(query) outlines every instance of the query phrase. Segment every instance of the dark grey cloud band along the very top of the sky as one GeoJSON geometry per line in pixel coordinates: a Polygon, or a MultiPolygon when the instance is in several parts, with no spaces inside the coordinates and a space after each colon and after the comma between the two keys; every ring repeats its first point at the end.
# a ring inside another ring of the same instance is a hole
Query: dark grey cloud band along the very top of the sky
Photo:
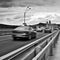
{"type": "MultiPolygon", "coordinates": [[[[26,6],[26,5],[38,5],[38,6],[53,6],[59,0],[0,0],[0,7],[11,6],[26,6]]],[[[57,3],[58,4],[58,3],[57,3]]]]}

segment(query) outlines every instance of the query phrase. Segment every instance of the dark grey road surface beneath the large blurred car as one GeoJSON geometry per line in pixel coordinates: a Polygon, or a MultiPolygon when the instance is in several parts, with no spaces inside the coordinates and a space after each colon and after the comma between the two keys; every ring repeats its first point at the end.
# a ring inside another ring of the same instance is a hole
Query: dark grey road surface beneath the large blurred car
{"type": "MultiPolygon", "coordinates": [[[[39,39],[39,38],[41,38],[45,35],[47,35],[47,34],[37,33],[37,38],[36,39],[39,39]]],[[[29,44],[29,43],[35,41],[36,39],[32,39],[32,40],[29,40],[29,41],[22,41],[22,40],[13,41],[11,36],[10,37],[7,36],[6,38],[5,37],[3,37],[3,38],[0,37],[0,56],[5,55],[5,54],[17,49],[17,48],[20,48],[20,47],[26,45],[26,44],[29,44]]]]}

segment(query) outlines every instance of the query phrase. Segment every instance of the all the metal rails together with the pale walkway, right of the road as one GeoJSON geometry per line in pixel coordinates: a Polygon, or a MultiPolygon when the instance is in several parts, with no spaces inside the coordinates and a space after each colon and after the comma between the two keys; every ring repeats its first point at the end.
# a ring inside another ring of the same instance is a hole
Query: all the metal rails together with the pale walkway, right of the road
{"type": "MultiPolygon", "coordinates": [[[[2,52],[3,53],[3,52],[2,52]]],[[[60,31],[44,35],[9,53],[0,54],[0,60],[59,60],[60,31]]]]}

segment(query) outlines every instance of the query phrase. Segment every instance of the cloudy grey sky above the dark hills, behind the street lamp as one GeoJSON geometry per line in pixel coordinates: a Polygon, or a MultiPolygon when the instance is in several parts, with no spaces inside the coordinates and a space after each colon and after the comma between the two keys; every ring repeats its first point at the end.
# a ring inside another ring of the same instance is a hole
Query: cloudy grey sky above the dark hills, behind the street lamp
{"type": "Polygon", "coordinates": [[[60,24],[60,0],[0,0],[0,23],[21,25],[27,6],[31,8],[26,12],[27,24],[48,20],[60,24]]]}

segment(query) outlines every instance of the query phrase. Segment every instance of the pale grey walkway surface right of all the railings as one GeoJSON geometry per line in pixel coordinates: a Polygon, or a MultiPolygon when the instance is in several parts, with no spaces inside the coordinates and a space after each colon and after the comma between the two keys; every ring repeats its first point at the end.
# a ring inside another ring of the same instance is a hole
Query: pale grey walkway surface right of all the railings
{"type": "Polygon", "coordinates": [[[60,60],[60,36],[56,44],[56,48],[54,48],[53,54],[54,56],[52,56],[50,60],[60,60]]]}

